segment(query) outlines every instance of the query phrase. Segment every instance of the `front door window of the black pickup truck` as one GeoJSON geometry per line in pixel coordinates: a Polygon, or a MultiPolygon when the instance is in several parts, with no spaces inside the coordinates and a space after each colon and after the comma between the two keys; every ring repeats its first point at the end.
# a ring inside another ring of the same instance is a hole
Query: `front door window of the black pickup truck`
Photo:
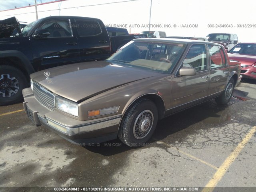
{"type": "Polygon", "coordinates": [[[48,21],[42,24],[41,28],[47,29],[50,32],[49,38],[72,36],[69,20],[48,21]]]}

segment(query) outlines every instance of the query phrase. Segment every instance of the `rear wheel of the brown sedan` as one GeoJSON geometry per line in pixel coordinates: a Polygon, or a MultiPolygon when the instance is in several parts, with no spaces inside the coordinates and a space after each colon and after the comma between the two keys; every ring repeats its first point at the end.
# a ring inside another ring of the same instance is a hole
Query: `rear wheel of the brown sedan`
{"type": "Polygon", "coordinates": [[[220,96],[215,98],[216,103],[219,105],[227,104],[233,95],[234,87],[235,87],[235,82],[234,82],[234,79],[231,78],[225,88],[225,91],[220,96]]]}

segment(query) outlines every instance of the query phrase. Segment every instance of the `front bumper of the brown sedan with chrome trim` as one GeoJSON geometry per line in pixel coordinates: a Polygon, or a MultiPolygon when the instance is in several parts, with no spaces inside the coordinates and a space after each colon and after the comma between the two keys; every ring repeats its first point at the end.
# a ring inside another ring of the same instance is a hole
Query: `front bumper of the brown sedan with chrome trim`
{"type": "Polygon", "coordinates": [[[31,88],[22,90],[24,110],[36,126],[44,125],[75,144],[99,143],[117,138],[122,116],[80,121],[42,106],[31,88]]]}

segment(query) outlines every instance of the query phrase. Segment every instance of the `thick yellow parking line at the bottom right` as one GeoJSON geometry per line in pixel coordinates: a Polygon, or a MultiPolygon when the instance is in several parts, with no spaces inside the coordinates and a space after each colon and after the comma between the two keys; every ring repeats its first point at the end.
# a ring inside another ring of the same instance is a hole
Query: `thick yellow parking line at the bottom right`
{"type": "Polygon", "coordinates": [[[246,146],[250,138],[254,135],[256,132],[256,126],[254,126],[248,134],[244,137],[244,139],[238,144],[238,146],[235,148],[235,150],[226,158],[226,160],[223,162],[223,164],[218,168],[212,179],[206,184],[202,192],[212,192],[218,182],[221,180],[221,178],[224,176],[230,165],[234,162],[234,160],[237,158],[241,150],[246,146]]]}

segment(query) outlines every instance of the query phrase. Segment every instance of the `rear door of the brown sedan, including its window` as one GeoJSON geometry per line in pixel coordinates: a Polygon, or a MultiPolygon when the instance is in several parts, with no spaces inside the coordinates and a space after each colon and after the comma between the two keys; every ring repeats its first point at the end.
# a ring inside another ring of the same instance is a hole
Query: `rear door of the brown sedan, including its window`
{"type": "Polygon", "coordinates": [[[222,46],[208,44],[210,53],[210,88],[208,98],[214,98],[220,94],[226,85],[230,74],[226,54],[222,46]]]}

